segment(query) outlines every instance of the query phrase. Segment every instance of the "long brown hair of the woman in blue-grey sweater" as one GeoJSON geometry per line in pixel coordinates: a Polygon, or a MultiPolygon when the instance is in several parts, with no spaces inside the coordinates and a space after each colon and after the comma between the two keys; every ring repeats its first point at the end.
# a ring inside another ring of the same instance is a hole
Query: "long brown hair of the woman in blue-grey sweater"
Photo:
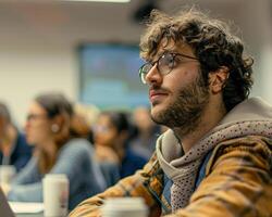
{"type": "Polygon", "coordinates": [[[42,150],[38,151],[40,173],[48,173],[54,165],[59,150],[72,138],[87,138],[88,126],[74,114],[72,103],[61,93],[44,93],[34,100],[45,108],[49,119],[61,116],[60,131],[54,135],[57,152],[52,161],[42,150]]]}

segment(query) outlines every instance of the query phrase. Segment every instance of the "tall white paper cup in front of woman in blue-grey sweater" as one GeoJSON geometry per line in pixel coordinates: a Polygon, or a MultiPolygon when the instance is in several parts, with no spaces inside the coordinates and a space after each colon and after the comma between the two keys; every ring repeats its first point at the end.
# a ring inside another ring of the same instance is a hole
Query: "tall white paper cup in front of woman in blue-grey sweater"
{"type": "Polygon", "coordinates": [[[47,174],[42,180],[44,216],[63,217],[67,215],[69,179],[64,174],[47,174]]]}

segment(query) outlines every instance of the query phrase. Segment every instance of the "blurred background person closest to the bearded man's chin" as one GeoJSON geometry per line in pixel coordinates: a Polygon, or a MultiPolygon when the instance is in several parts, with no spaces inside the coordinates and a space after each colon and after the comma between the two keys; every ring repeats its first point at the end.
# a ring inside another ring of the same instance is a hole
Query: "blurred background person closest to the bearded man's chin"
{"type": "Polygon", "coordinates": [[[135,153],[149,159],[154,152],[156,140],[161,128],[151,119],[150,110],[145,106],[133,111],[132,120],[136,129],[129,145],[135,153]]]}

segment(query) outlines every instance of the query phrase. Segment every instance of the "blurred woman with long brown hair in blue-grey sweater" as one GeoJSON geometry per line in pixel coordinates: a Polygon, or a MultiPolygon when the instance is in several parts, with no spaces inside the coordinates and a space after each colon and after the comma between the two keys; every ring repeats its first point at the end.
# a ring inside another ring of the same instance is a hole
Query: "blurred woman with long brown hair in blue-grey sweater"
{"type": "Polygon", "coordinates": [[[27,166],[5,190],[10,201],[42,202],[46,174],[65,174],[70,181],[69,208],[101,192],[106,182],[94,161],[94,149],[75,116],[71,102],[60,93],[39,94],[32,102],[25,124],[26,139],[35,145],[27,166]]]}

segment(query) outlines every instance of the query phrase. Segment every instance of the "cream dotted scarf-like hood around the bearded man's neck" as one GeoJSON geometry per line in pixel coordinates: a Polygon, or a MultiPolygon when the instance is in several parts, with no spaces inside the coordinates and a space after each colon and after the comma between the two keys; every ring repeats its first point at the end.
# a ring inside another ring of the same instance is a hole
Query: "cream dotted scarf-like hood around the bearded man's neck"
{"type": "Polygon", "coordinates": [[[188,204],[203,156],[222,141],[250,135],[272,138],[272,107],[257,98],[237,105],[186,154],[172,130],[161,135],[156,152],[163,171],[173,181],[172,213],[188,204]]]}

